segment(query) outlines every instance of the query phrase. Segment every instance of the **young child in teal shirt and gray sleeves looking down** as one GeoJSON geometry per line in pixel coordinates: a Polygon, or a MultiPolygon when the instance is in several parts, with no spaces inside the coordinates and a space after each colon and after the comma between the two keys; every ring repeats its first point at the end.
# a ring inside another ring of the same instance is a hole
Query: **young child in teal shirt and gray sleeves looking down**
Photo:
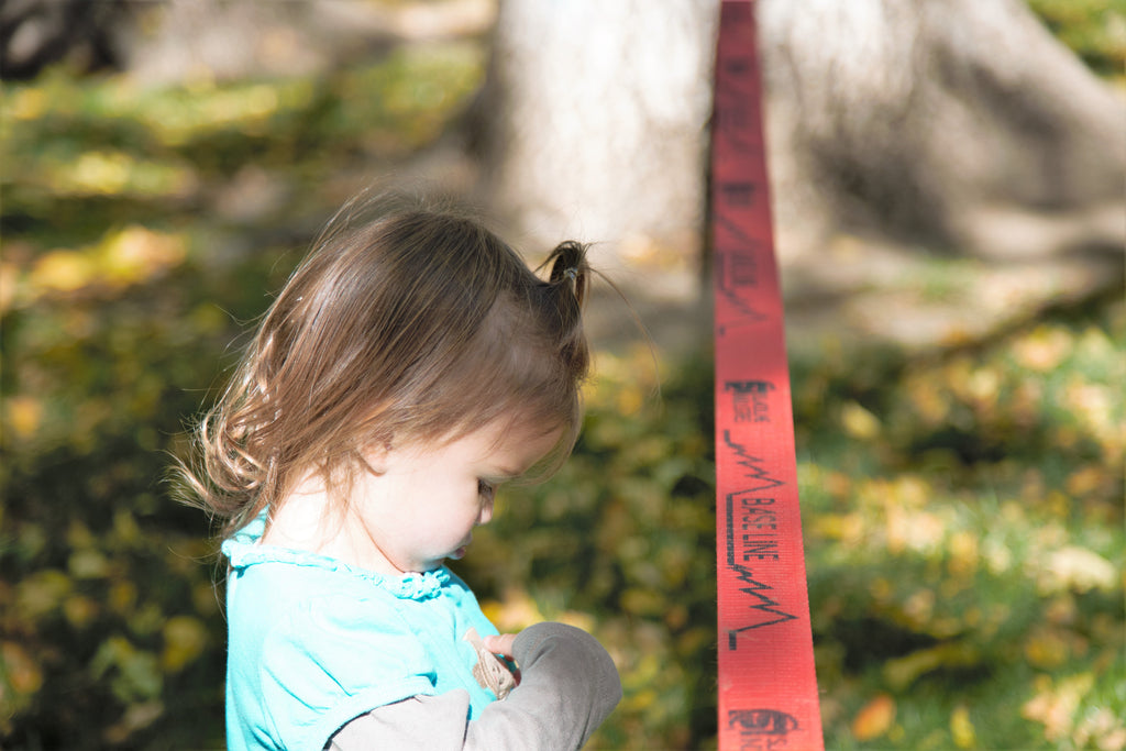
{"type": "Polygon", "coordinates": [[[293,274],[186,473],[230,520],[229,748],[577,749],[620,699],[609,655],[562,624],[498,635],[444,561],[574,444],[584,248],[540,279],[472,220],[359,214],[293,274]]]}

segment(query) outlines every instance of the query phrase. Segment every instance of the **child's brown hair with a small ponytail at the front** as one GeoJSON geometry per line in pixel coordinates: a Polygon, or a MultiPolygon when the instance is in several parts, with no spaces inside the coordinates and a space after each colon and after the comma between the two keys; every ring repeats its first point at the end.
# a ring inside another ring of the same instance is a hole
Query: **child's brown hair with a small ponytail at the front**
{"type": "MultiPolygon", "coordinates": [[[[479,222],[447,209],[333,218],[266,313],[200,421],[190,495],[238,528],[311,471],[346,494],[361,452],[449,440],[498,419],[579,430],[589,355],[586,247],[537,277],[479,222]]],[[[370,470],[370,467],[367,467],[370,470]]]]}

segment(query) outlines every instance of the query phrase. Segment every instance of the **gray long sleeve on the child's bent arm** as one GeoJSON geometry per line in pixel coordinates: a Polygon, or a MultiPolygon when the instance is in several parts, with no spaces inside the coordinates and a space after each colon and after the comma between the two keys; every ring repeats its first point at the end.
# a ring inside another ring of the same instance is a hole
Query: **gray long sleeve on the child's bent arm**
{"type": "Polygon", "coordinates": [[[617,668],[590,634],[557,623],[520,632],[520,685],[468,722],[470,695],[415,696],[373,709],[332,736],[330,751],[574,751],[622,699],[617,668]]]}

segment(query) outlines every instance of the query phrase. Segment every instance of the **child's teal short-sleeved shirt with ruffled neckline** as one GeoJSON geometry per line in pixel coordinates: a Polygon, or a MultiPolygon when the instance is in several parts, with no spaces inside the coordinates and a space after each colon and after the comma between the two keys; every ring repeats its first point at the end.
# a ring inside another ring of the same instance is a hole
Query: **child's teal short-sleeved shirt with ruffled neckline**
{"type": "Polygon", "coordinates": [[[474,679],[476,652],[463,637],[497,628],[448,569],[383,576],[260,545],[265,526],[223,544],[230,751],[321,751],[355,717],[418,695],[465,689],[470,719],[495,700],[474,679]]]}

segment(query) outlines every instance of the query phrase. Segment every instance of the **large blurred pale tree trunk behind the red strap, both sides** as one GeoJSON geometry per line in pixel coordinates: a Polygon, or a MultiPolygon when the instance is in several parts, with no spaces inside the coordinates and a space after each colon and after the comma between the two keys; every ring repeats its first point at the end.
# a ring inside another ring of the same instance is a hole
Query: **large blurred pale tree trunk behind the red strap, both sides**
{"type": "MultiPolygon", "coordinates": [[[[784,253],[858,227],[1120,249],[1126,106],[1020,0],[758,6],[784,253]]],[[[691,257],[717,8],[501,0],[474,141],[499,213],[543,242],[691,257]]]]}

